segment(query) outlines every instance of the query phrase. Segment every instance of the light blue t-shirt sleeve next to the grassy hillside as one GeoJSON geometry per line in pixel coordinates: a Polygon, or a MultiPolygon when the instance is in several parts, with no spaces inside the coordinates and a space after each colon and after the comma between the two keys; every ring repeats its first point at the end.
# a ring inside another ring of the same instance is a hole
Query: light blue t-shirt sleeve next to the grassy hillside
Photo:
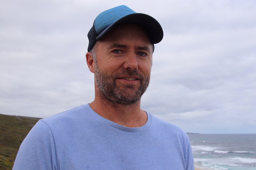
{"type": "Polygon", "coordinates": [[[57,170],[56,148],[50,127],[39,120],[20,145],[13,170],[57,170]]]}

